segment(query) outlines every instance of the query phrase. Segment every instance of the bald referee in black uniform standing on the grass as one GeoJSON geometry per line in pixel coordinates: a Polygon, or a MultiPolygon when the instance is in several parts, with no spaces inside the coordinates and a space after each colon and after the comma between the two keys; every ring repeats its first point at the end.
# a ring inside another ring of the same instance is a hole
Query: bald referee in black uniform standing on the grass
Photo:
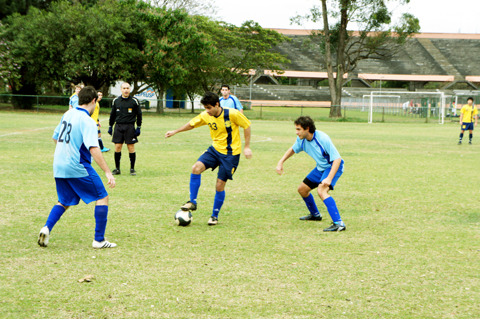
{"type": "Polygon", "coordinates": [[[110,112],[110,127],[108,134],[112,135],[112,142],[115,143],[115,166],[112,171],[113,175],[120,175],[120,159],[122,158],[123,143],[127,144],[128,153],[130,155],[130,175],[135,176],[135,143],[138,142],[137,136],[140,135],[142,126],[142,110],[140,103],[134,97],[130,96],[130,84],[122,83],[122,95],[113,100],[112,111],[110,112]],[[135,129],[135,122],[137,128],[135,129]]]}

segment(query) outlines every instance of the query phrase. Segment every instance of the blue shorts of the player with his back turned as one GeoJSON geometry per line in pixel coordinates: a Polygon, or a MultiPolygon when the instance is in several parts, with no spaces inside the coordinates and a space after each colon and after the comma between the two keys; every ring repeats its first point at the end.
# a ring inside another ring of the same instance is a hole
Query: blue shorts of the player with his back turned
{"type": "Polygon", "coordinates": [[[64,206],[78,205],[80,199],[85,204],[108,196],[103,182],[97,172],[87,168],[89,176],[81,178],[55,178],[57,184],[58,202],[64,206]]]}

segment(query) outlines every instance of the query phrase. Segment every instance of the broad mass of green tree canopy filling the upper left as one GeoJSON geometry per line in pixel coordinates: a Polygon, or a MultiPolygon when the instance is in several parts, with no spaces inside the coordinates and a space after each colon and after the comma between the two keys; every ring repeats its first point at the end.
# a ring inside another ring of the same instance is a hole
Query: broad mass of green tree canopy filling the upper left
{"type": "Polygon", "coordinates": [[[51,81],[100,88],[124,80],[133,82],[132,93],[140,82],[161,94],[201,94],[287,62],[270,51],[286,38],[253,21],[236,27],[137,0],[92,1],[52,1],[48,10],[4,19],[0,74],[14,93],[36,94],[51,81]]]}

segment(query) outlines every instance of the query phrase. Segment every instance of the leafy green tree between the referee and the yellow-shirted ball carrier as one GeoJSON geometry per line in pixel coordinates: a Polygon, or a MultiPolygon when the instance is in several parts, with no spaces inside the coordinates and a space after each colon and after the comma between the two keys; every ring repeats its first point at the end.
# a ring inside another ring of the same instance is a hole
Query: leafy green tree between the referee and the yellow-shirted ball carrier
{"type": "MultiPolygon", "coordinates": [[[[195,20],[183,9],[166,9],[144,5],[139,10],[147,23],[145,43],[145,81],[163,98],[165,91],[197,92],[197,78],[215,48],[202,34],[195,20]]],[[[157,107],[163,112],[163,107],[157,107]]]]}

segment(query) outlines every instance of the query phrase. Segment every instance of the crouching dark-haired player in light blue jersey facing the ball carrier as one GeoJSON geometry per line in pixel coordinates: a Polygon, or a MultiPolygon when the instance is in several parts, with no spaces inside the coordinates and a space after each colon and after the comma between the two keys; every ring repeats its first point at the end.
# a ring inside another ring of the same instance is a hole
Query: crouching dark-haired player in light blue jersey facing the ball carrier
{"type": "Polygon", "coordinates": [[[335,200],[328,194],[330,190],[333,190],[340,176],[342,176],[343,159],[340,157],[330,137],[321,131],[317,131],[315,123],[309,116],[301,116],[296,119],[295,130],[298,136],[297,140],[278,162],[277,173],[282,175],[283,163],[293,154],[304,151],[313,157],[317,165],[298,187],[298,193],[305,201],[310,215],[300,217],[300,219],[322,220],[322,215],[318,211],[313,195],[310,193],[312,189],[318,187],[318,195],[323,200],[333,221],[332,225],[323,231],[343,231],[347,227],[340,217],[335,200]]]}

